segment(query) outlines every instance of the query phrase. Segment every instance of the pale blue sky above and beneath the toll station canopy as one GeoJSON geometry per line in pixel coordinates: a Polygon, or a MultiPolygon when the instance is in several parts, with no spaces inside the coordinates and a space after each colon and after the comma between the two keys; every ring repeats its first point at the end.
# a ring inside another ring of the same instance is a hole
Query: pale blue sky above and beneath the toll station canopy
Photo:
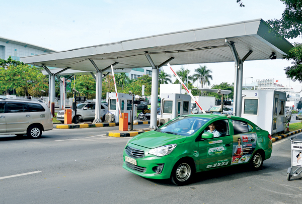
{"type": "MultiPolygon", "coordinates": [[[[1,3],[0,36],[63,51],[260,18],[280,19],[285,9],[279,0],[243,3],[244,8],[236,0],[5,1],[1,3]]],[[[288,41],[302,43],[301,38],[288,41]]],[[[234,62],[200,65],[211,69],[211,85],[234,82],[234,62]]],[[[299,84],[286,78],[284,67],[290,65],[282,59],[245,61],[243,86],[256,79],[274,79],[290,87],[299,84]]],[[[192,75],[199,64],[183,66],[192,75]]],[[[180,66],[173,68],[178,70],[180,66]]],[[[163,70],[172,75],[167,66],[163,70]]]]}

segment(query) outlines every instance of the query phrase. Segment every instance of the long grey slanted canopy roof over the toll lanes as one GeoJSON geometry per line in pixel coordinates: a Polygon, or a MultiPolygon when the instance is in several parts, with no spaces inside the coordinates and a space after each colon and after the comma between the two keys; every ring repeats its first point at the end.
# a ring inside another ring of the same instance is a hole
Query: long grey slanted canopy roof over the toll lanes
{"type": "Polygon", "coordinates": [[[118,62],[115,69],[150,67],[146,52],[155,65],[171,57],[175,58],[171,65],[233,62],[225,38],[235,43],[240,58],[250,50],[253,53],[247,60],[269,59],[272,52],[277,58],[282,58],[282,54],[287,54],[293,46],[284,38],[276,37],[276,32],[270,32],[270,29],[262,19],[257,19],[22,57],[22,61],[81,71],[95,71],[89,59],[101,70],[115,62],[118,62]]]}

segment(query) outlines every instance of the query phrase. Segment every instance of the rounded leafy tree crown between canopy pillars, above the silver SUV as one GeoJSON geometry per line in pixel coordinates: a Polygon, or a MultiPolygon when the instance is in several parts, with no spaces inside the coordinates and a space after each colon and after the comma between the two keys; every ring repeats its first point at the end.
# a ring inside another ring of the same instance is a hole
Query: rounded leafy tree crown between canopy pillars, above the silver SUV
{"type": "Polygon", "coordinates": [[[80,75],[75,79],[75,89],[87,98],[95,98],[96,81],[92,75],[80,75]]]}

